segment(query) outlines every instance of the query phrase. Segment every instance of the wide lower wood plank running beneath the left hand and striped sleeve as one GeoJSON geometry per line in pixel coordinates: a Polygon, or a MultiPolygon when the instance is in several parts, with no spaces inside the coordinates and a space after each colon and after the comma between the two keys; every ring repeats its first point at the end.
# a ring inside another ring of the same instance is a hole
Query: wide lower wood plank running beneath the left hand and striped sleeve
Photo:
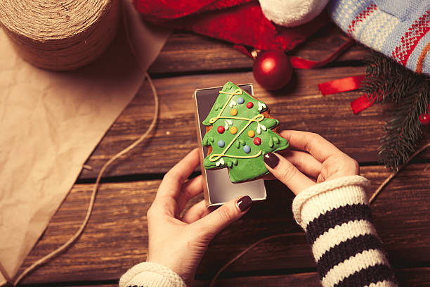
{"type": "MultiPolygon", "coordinates": [[[[430,262],[428,167],[406,167],[372,205],[374,224],[395,267],[430,262]]],[[[389,172],[381,166],[371,166],[362,167],[362,174],[372,180],[374,190],[389,172]]],[[[23,283],[116,280],[133,264],[145,260],[145,214],[158,184],[159,180],[103,184],[82,237],[23,283]]],[[[261,243],[226,272],[315,266],[305,236],[292,218],[292,193],[278,181],[268,181],[266,185],[268,200],[254,205],[243,219],[214,238],[197,271],[199,276],[213,276],[233,255],[257,239],[285,232],[289,234],[287,238],[261,243]]],[[[91,187],[74,186],[20,271],[72,236],[84,218],[91,187]]]]}

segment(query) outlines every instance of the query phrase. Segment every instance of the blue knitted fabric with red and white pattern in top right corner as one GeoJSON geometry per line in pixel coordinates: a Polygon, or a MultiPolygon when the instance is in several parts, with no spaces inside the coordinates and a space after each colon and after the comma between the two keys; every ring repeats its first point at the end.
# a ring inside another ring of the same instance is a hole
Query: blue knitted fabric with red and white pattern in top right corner
{"type": "Polygon", "coordinates": [[[358,42],[430,75],[430,0],[331,0],[327,10],[358,42]]]}

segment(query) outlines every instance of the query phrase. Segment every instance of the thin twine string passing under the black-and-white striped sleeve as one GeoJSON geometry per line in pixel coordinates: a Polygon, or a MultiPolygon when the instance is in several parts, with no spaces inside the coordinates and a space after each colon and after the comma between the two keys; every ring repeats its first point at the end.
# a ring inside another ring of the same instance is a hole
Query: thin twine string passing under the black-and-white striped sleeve
{"type": "MultiPolygon", "coordinates": [[[[389,184],[389,182],[391,181],[391,179],[393,179],[394,177],[396,177],[396,175],[398,174],[398,172],[400,172],[400,170],[403,169],[403,167],[405,167],[406,165],[408,165],[408,163],[415,158],[419,153],[421,153],[422,151],[424,151],[426,148],[428,148],[430,146],[430,142],[428,142],[427,144],[425,144],[424,146],[422,146],[421,148],[419,148],[415,153],[413,153],[410,158],[408,158],[408,160],[406,160],[405,163],[403,163],[403,165],[400,165],[400,167],[393,173],[391,173],[389,175],[389,177],[387,177],[384,182],[382,182],[382,184],[378,187],[378,189],[376,191],[374,191],[374,193],[372,193],[372,196],[370,196],[369,199],[369,205],[372,204],[372,202],[374,201],[374,199],[378,196],[378,194],[382,191],[382,189],[384,189],[384,187],[389,184]]],[[[233,264],[234,262],[236,262],[237,260],[240,259],[240,257],[242,257],[243,255],[245,255],[246,253],[249,252],[249,250],[252,250],[252,248],[254,248],[256,245],[259,245],[260,243],[272,240],[274,238],[280,238],[280,237],[288,237],[288,236],[294,236],[296,234],[287,234],[287,233],[283,233],[283,234],[275,234],[275,235],[271,235],[271,236],[267,236],[267,237],[263,237],[261,239],[259,239],[259,241],[256,241],[254,243],[252,243],[251,245],[249,245],[247,248],[245,248],[245,250],[243,250],[241,253],[237,254],[235,257],[233,257],[232,260],[228,261],[226,264],[223,264],[223,266],[218,270],[218,272],[216,272],[214,278],[212,278],[211,282],[209,283],[209,287],[214,287],[216,279],[218,279],[218,277],[221,275],[221,273],[227,268],[229,267],[231,264],[233,264]]]]}

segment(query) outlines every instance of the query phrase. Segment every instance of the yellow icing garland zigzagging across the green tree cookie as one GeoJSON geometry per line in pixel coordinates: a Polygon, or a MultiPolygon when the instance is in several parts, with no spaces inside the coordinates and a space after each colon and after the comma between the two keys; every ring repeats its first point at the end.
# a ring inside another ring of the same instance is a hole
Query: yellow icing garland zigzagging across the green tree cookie
{"type": "Polygon", "coordinates": [[[232,92],[228,92],[228,91],[219,91],[220,94],[228,94],[230,95],[230,97],[228,97],[228,100],[226,101],[226,103],[224,104],[223,108],[221,109],[221,111],[219,112],[219,114],[216,117],[212,117],[209,120],[209,123],[213,124],[214,122],[216,122],[216,120],[219,119],[236,119],[236,120],[247,120],[247,125],[245,125],[245,127],[243,127],[240,132],[238,132],[236,134],[236,136],[233,138],[232,141],[230,141],[230,144],[228,144],[228,146],[226,146],[226,148],[224,148],[222,153],[219,154],[211,154],[209,156],[209,161],[211,162],[215,162],[216,160],[219,160],[220,158],[222,158],[223,156],[228,157],[228,158],[256,158],[259,155],[261,155],[262,151],[259,151],[259,153],[256,153],[255,155],[226,155],[226,151],[228,150],[228,148],[230,148],[230,146],[235,142],[235,140],[240,136],[240,134],[242,134],[242,132],[245,131],[245,129],[247,129],[247,127],[249,125],[251,125],[252,122],[261,122],[264,119],[264,115],[256,115],[255,117],[253,117],[252,119],[249,119],[247,117],[221,117],[221,114],[223,113],[223,111],[226,109],[228,103],[230,103],[231,98],[233,98],[233,96],[235,95],[241,95],[243,94],[242,89],[236,89],[235,91],[232,92]]]}

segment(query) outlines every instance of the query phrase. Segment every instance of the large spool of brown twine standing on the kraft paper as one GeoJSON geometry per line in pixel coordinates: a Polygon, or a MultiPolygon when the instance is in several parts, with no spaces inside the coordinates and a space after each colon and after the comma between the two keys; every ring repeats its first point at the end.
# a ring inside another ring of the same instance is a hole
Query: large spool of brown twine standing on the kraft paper
{"type": "Polygon", "coordinates": [[[16,51],[48,70],[95,60],[119,25],[119,0],[1,0],[0,23],[16,51]]]}

